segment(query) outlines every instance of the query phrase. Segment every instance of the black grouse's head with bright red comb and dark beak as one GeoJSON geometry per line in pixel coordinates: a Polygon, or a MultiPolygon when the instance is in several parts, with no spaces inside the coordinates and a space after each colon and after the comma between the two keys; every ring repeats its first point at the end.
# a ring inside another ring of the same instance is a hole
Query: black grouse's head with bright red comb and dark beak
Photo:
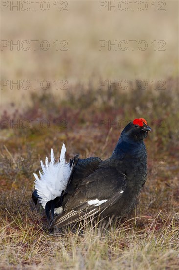
{"type": "Polygon", "coordinates": [[[134,119],[124,128],[121,137],[133,141],[142,141],[147,137],[148,131],[152,131],[152,129],[147,125],[144,118],[134,119]]]}

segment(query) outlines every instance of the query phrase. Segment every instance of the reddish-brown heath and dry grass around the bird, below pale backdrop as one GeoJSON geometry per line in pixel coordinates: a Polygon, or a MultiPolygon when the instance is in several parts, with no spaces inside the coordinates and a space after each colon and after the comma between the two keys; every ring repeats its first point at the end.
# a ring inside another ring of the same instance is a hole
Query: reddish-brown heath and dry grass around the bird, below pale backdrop
{"type": "Polygon", "coordinates": [[[23,115],[18,111],[13,115],[3,114],[2,119],[15,122],[48,119],[50,127],[2,126],[2,269],[178,269],[177,102],[174,105],[177,80],[170,79],[167,83],[172,89],[170,93],[167,89],[157,93],[148,89],[142,93],[138,88],[129,92],[113,89],[110,94],[104,91],[101,103],[101,96],[91,88],[84,94],[81,87],[78,95],[74,88],[62,101],[52,94],[32,95],[33,106],[26,108],[23,115]],[[153,104],[151,108],[150,104],[153,104]],[[48,156],[51,147],[58,155],[62,142],[67,144],[67,159],[76,153],[81,153],[81,157],[107,158],[122,127],[105,125],[99,129],[99,119],[119,122],[141,115],[145,118],[148,115],[153,133],[146,140],[149,175],[136,211],[108,226],[90,222],[48,232],[44,212],[39,213],[41,209],[36,210],[31,201],[32,173],[38,171],[39,159],[48,156]],[[67,128],[57,129],[55,119],[66,119],[67,128]],[[153,123],[153,119],[157,122],[153,123]]]}

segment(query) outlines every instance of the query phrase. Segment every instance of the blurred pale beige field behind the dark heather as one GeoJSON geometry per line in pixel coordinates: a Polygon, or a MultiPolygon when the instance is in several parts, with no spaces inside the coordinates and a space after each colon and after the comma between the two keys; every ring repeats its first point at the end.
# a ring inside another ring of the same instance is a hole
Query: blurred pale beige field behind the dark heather
{"type": "Polygon", "coordinates": [[[178,76],[178,1],[27,3],[1,2],[1,79],[20,80],[19,89],[6,81],[1,85],[1,111],[12,111],[11,102],[26,108],[32,92],[44,92],[42,80],[61,98],[77,84],[84,91],[89,82],[98,89],[100,79],[147,80],[153,85],[151,81],[178,76]],[[100,40],[107,43],[101,50],[100,40]],[[108,48],[108,43],[117,48],[108,48]],[[23,80],[30,85],[21,85],[23,80]],[[36,91],[31,80],[39,80],[36,91]],[[65,90],[60,89],[62,80],[67,80],[65,90]]]}

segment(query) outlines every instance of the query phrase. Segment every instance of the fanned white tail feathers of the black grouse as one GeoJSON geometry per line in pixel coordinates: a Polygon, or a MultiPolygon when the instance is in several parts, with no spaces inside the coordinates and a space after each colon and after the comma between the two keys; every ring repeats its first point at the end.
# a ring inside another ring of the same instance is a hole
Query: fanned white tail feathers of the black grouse
{"type": "Polygon", "coordinates": [[[60,153],[60,160],[55,163],[53,149],[51,149],[51,161],[49,162],[46,157],[45,165],[42,161],[40,162],[42,168],[42,173],[39,171],[40,178],[34,173],[35,189],[41,198],[40,203],[44,209],[48,201],[61,196],[62,191],[67,187],[71,169],[70,164],[65,162],[65,152],[65,144],[63,144],[60,153]]]}

